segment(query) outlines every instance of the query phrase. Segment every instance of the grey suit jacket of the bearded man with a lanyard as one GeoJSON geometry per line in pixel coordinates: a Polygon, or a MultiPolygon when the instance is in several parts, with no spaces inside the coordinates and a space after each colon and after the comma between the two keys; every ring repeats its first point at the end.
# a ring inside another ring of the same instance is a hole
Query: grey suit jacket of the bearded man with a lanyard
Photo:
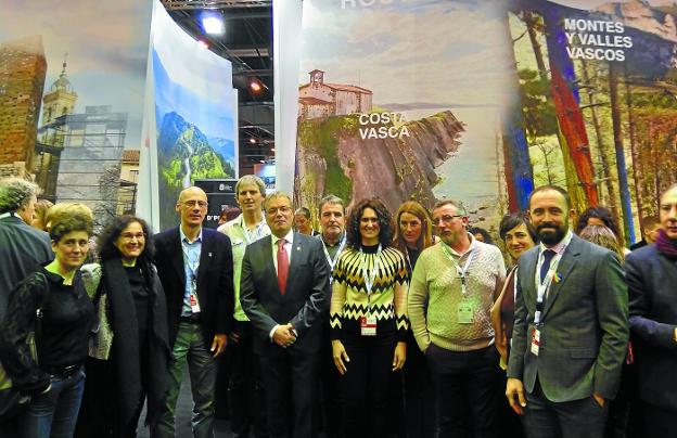
{"type": "Polygon", "coordinates": [[[615,254],[573,236],[544,308],[538,357],[531,352],[538,246],[520,257],[508,377],[555,402],[598,392],[613,399],[629,336],[627,287],[615,254]]]}

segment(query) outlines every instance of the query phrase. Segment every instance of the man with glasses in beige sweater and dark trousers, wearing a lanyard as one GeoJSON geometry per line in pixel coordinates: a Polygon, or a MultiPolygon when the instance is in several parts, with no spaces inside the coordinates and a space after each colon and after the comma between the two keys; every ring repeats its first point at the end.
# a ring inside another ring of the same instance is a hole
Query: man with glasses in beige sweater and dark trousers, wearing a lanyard
{"type": "Polygon", "coordinates": [[[408,311],[435,382],[439,437],[495,437],[500,375],[490,311],[506,279],[503,257],[468,232],[457,202],[437,203],[433,223],[442,242],[419,256],[408,311]]]}

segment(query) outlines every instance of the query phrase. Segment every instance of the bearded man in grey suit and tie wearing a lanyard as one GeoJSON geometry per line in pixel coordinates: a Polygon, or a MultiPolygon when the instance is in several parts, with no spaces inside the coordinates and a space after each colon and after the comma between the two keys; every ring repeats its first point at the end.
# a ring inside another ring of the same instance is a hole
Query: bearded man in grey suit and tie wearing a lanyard
{"type": "Polygon", "coordinates": [[[602,437],[618,388],[628,328],[623,268],[569,229],[567,193],[529,197],[540,244],[520,258],[506,396],[533,437],[602,437]]]}

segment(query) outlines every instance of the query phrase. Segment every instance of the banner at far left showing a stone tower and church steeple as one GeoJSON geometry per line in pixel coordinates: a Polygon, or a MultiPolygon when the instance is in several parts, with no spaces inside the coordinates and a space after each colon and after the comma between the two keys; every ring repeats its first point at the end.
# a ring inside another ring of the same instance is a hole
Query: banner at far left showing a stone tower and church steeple
{"type": "Polygon", "coordinates": [[[141,146],[150,22],[137,0],[2,1],[0,175],[87,204],[97,226],[129,207],[120,160],[141,146]]]}

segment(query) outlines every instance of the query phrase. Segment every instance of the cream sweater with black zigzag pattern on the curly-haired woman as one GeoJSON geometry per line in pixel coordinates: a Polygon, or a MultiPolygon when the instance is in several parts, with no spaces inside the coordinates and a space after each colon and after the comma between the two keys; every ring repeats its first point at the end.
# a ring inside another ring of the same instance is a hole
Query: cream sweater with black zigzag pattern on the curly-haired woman
{"type": "Polygon", "coordinates": [[[371,273],[375,259],[375,247],[367,247],[365,253],[348,247],[338,256],[330,306],[332,339],[341,339],[342,330],[359,332],[359,320],[368,315],[371,307],[371,315],[376,318],[379,327],[393,324],[397,328],[397,339],[406,340],[409,321],[405,257],[393,247],[381,252],[379,271],[368,296],[363,266],[367,263],[367,272],[371,273]]]}

